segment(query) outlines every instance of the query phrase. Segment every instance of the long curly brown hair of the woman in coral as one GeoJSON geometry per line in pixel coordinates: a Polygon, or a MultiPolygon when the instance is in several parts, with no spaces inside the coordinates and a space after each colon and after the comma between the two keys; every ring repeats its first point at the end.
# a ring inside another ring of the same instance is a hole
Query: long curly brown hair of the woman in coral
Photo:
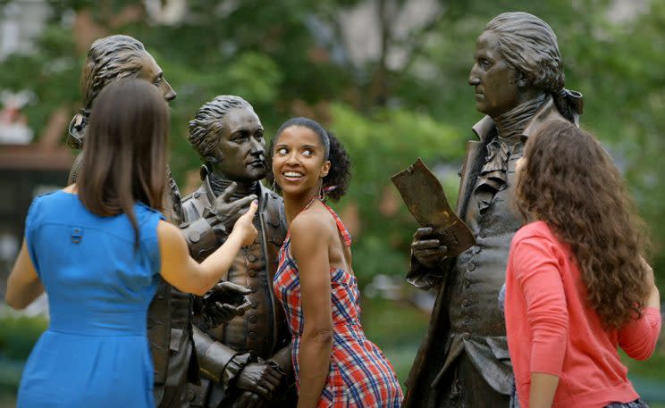
{"type": "Polygon", "coordinates": [[[524,159],[518,209],[568,243],[588,304],[609,328],[641,316],[649,294],[642,263],[648,240],[610,154],[588,132],[552,121],[528,138],[524,159]]]}

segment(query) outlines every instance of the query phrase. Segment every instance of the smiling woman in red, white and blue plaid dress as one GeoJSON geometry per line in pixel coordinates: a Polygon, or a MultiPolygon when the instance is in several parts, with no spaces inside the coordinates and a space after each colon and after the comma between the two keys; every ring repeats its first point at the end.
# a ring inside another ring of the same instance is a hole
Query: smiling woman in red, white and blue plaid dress
{"type": "Polygon", "coordinates": [[[399,407],[391,363],[358,321],[349,232],[324,204],[349,182],[349,157],[316,121],[287,121],[274,137],[272,170],[289,234],[274,291],[289,321],[298,408],[399,407]]]}

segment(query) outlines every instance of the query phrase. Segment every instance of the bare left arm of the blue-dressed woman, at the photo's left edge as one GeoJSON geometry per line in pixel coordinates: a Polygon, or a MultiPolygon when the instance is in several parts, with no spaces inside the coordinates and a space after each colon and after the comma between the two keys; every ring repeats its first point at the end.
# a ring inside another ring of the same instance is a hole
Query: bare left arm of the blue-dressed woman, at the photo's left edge
{"type": "Polygon", "coordinates": [[[28,244],[23,239],[21,251],[7,279],[6,302],[15,309],[22,309],[44,292],[44,287],[32,263],[28,244]]]}

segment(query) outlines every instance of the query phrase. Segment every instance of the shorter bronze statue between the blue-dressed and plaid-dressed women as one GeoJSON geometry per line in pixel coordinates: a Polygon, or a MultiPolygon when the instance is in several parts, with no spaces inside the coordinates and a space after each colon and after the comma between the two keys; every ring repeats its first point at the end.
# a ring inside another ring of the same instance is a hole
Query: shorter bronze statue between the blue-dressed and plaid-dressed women
{"type": "Polygon", "coordinates": [[[260,183],[267,171],[264,129],[248,102],[217,96],[189,122],[189,142],[205,165],[203,185],[182,200],[181,228],[191,254],[203,260],[227,237],[224,224],[258,197],[259,238],[238,255],[230,282],[248,287],[251,309],[220,324],[219,306],[198,299],[194,341],[201,387],[192,406],[289,407],[296,405],[290,335],[273,293],[278,251],[286,235],[282,198],[260,183]],[[238,203],[231,208],[232,203],[238,203]]]}

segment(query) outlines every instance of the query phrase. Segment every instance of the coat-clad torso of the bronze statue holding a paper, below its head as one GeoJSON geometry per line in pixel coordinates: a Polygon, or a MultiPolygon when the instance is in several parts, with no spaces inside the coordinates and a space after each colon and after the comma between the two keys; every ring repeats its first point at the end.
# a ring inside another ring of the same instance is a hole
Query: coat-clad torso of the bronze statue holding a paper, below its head
{"type": "Polygon", "coordinates": [[[565,121],[551,99],[522,137],[502,140],[489,117],[474,127],[480,140],[468,142],[457,212],[476,237],[476,246],[442,262],[438,273],[412,262],[411,273],[442,278],[435,287],[429,330],[408,376],[405,407],[509,404],[512,370],[498,296],[510,240],[523,223],[512,203],[515,163],[523,153],[521,139],[546,121],[565,121]],[[487,171],[493,170],[492,162],[501,171],[487,171]]]}

